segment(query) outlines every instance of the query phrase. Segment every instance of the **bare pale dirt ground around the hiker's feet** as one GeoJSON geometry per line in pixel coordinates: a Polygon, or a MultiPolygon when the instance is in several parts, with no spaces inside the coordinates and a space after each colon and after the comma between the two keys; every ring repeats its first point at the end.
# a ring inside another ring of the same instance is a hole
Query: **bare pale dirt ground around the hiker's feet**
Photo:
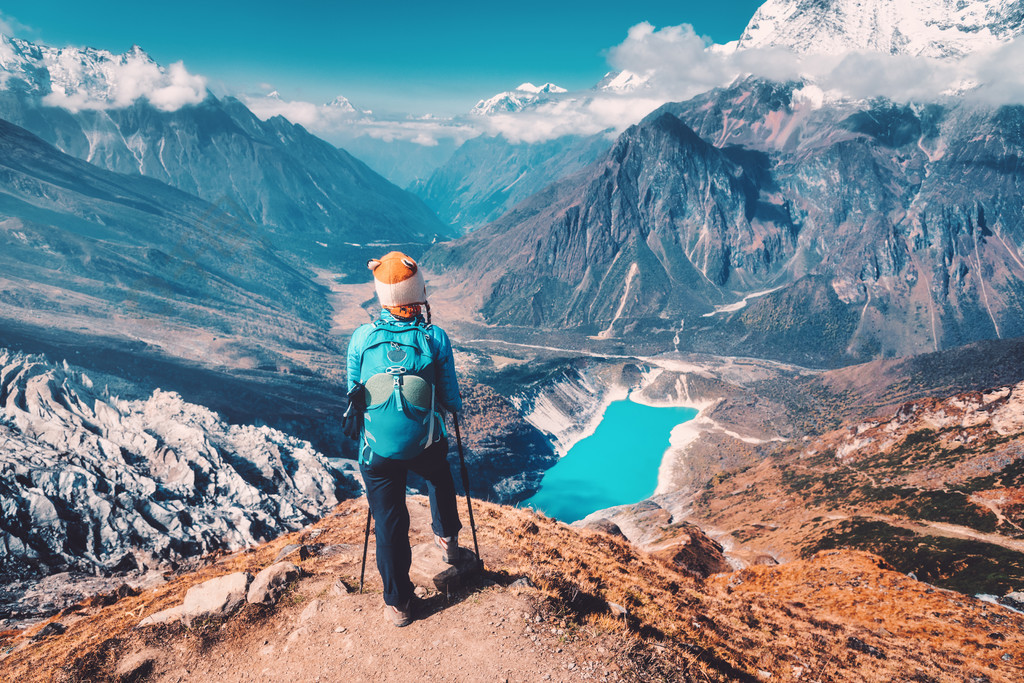
{"type": "MultiPolygon", "coordinates": [[[[413,542],[429,537],[424,501],[410,500],[413,542]]],[[[472,543],[464,529],[463,543],[472,543]]],[[[416,621],[395,628],[384,610],[373,554],[362,595],[332,591],[339,578],[357,587],[361,546],[333,558],[331,570],[299,582],[262,621],[232,620],[221,632],[193,633],[155,654],[153,680],[195,681],[578,681],[621,680],[613,645],[545,614],[538,591],[483,579],[453,595],[421,601],[416,621]]],[[[484,561],[487,549],[482,549],[484,561]]]]}

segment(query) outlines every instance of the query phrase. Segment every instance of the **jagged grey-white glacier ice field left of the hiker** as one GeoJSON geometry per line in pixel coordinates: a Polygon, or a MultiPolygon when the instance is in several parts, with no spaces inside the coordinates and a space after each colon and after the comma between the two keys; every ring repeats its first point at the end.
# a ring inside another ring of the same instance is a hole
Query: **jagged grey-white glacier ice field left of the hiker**
{"type": "Polygon", "coordinates": [[[166,569],[300,528],[357,487],[275,429],[159,390],[120,399],[67,365],[0,349],[7,580],[166,569]]]}

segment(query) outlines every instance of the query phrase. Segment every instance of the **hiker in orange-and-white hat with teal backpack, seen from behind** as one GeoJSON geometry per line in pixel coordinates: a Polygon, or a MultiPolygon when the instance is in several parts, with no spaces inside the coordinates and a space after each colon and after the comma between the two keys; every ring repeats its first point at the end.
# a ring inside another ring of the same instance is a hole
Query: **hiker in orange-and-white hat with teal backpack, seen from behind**
{"type": "Polygon", "coordinates": [[[441,559],[454,564],[459,555],[462,522],[440,411],[460,411],[462,398],[452,342],[430,323],[426,285],[416,261],[390,252],[367,265],[381,312],[377,321],[356,329],[348,343],[350,404],[356,410],[365,405],[365,412],[361,428],[346,427],[346,433],[359,439],[359,471],[376,522],[384,603],[394,625],[401,627],[412,621],[414,598],[406,507],[410,471],[427,482],[441,559]],[[365,395],[361,403],[359,394],[365,395]]]}

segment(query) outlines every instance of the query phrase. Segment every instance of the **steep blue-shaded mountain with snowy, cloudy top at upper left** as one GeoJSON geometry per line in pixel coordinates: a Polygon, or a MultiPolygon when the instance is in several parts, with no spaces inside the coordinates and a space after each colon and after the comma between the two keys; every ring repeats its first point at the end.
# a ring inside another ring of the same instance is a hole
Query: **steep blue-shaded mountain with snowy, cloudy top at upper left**
{"type": "Polygon", "coordinates": [[[0,40],[16,57],[0,62],[0,118],[91,164],[244,214],[303,260],[334,267],[361,258],[352,244],[429,244],[451,232],[416,197],[282,117],[260,121],[205,89],[175,108],[125,100],[116,65],[160,74],[141,50],[117,56],[0,40]]]}

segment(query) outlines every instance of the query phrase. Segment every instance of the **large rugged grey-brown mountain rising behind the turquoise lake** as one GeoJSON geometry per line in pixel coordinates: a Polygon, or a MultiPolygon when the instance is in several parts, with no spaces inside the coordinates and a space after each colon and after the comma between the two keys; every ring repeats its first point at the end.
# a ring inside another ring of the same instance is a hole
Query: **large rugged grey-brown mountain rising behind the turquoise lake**
{"type": "Polygon", "coordinates": [[[651,350],[836,365],[1024,334],[1024,108],[803,92],[668,104],[428,264],[489,324],[651,350]]]}

